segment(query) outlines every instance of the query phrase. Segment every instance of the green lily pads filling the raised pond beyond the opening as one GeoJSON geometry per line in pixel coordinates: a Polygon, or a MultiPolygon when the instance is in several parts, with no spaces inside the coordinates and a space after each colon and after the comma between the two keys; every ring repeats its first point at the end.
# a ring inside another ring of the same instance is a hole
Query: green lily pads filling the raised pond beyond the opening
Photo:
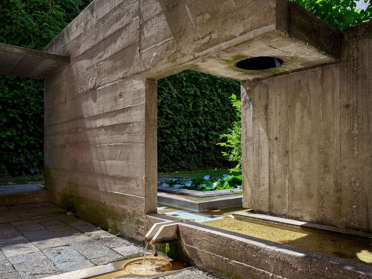
{"type": "Polygon", "coordinates": [[[158,186],[187,189],[195,191],[214,191],[225,189],[241,189],[241,175],[234,176],[224,174],[222,177],[215,178],[206,175],[203,178],[173,178],[165,181],[158,181],[158,186]]]}

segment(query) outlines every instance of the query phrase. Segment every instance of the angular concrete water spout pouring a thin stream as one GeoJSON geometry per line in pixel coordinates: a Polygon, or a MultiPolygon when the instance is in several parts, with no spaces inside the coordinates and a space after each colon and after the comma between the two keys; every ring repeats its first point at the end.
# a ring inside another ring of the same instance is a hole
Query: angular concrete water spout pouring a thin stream
{"type": "Polygon", "coordinates": [[[153,245],[169,243],[177,239],[178,224],[183,220],[155,223],[145,236],[145,241],[153,245]]]}

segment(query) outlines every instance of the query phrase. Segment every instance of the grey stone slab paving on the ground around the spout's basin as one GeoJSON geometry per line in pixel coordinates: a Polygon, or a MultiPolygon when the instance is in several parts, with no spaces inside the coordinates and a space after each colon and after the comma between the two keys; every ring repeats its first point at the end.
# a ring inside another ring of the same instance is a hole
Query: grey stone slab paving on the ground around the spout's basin
{"type": "MultiPolygon", "coordinates": [[[[143,254],[136,244],[48,202],[0,206],[0,248],[0,279],[44,278],[143,254]]],[[[160,278],[209,277],[188,269],[160,278]]]]}

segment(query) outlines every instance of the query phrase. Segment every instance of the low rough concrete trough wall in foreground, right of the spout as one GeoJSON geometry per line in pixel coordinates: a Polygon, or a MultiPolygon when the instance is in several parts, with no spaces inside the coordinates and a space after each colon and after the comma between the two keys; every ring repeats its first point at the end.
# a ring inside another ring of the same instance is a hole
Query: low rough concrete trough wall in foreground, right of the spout
{"type": "Polygon", "coordinates": [[[221,276],[255,279],[372,278],[372,266],[248,235],[183,222],[184,254],[196,267],[221,276]]]}

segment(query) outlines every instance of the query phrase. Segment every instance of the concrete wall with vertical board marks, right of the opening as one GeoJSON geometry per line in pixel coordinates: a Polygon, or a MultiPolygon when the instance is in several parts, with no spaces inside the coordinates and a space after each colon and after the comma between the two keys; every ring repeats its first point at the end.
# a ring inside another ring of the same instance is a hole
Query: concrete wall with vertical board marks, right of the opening
{"type": "Polygon", "coordinates": [[[242,83],[245,207],[372,231],[371,29],[340,64],[242,83]]]}

